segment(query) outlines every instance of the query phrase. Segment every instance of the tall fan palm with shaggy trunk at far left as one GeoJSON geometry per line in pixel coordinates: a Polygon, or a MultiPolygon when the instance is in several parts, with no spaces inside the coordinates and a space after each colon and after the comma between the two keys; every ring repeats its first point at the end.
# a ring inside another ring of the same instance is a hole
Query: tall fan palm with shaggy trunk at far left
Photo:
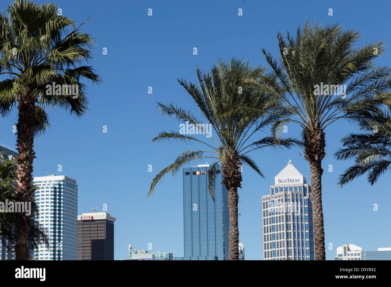
{"type": "MultiPolygon", "coordinates": [[[[48,127],[45,108],[61,107],[80,117],[88,105],[81,80],[100,81],[91,66],[82,65],[92,59],[93,40],[80,29],[87,20],[77,27],[70,18],[57,15],[57,8],[16,0],[0,15],[0,74],[9,77],[0,82],[0,114],[18,109],[18,202],[32,199],[34,136],[48,127]]],[[[16,214],[17,260],[26,259],[30,218],[16,214]]]]}

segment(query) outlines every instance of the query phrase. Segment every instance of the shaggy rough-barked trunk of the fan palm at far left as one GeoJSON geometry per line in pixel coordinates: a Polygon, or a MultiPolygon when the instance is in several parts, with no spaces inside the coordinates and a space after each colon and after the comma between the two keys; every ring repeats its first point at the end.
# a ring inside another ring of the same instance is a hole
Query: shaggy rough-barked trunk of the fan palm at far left
{"type": "MultiPolygon", "coordinates": [[[[29,93],[18,95],[17,146],[19,157],[16,158],[16,201],[29,202],[32,197],[32,161],[34,159],[34,109],[35,101],[29,93]]],[[[16,213],[16,260],[27,260],[27,228],[31,216],[16,213]]]]}

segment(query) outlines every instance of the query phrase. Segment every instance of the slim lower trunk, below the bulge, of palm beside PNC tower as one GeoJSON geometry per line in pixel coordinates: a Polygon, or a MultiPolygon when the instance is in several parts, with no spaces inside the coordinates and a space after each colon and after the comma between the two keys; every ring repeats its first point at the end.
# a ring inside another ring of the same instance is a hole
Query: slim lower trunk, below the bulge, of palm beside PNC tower
{"type": "Polygon", "coordinates": [[[238,201],[237,187],[228,189],[228,209],[230,215],[230,260],[239,260],[239,228],[238,228],[238,201]]]}

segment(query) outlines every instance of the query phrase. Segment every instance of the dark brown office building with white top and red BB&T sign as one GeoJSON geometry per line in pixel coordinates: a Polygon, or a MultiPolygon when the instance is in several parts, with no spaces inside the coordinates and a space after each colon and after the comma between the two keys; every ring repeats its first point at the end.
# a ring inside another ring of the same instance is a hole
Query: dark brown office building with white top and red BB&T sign
{"type": "Polygon", "coordinates": [[[114,222],[107,212],[77,216],[77,260],[114,260],[114,222]]]}

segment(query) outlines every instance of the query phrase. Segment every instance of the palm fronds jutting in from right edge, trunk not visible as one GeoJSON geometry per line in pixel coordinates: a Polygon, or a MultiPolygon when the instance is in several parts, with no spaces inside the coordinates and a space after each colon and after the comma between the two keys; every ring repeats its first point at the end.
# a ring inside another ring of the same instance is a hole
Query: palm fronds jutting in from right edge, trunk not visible
{"type": "Polygon", "coordinates": [[[373,185],[391,168],[391,113],[377,109],[366,115],[360,124],[364,133],[350,133],[341,141],[344,148],[335,152],[338,160],[353,159],[350,166],[339,177],[341,187],[368,172],[368,182],[373,185]]]}

